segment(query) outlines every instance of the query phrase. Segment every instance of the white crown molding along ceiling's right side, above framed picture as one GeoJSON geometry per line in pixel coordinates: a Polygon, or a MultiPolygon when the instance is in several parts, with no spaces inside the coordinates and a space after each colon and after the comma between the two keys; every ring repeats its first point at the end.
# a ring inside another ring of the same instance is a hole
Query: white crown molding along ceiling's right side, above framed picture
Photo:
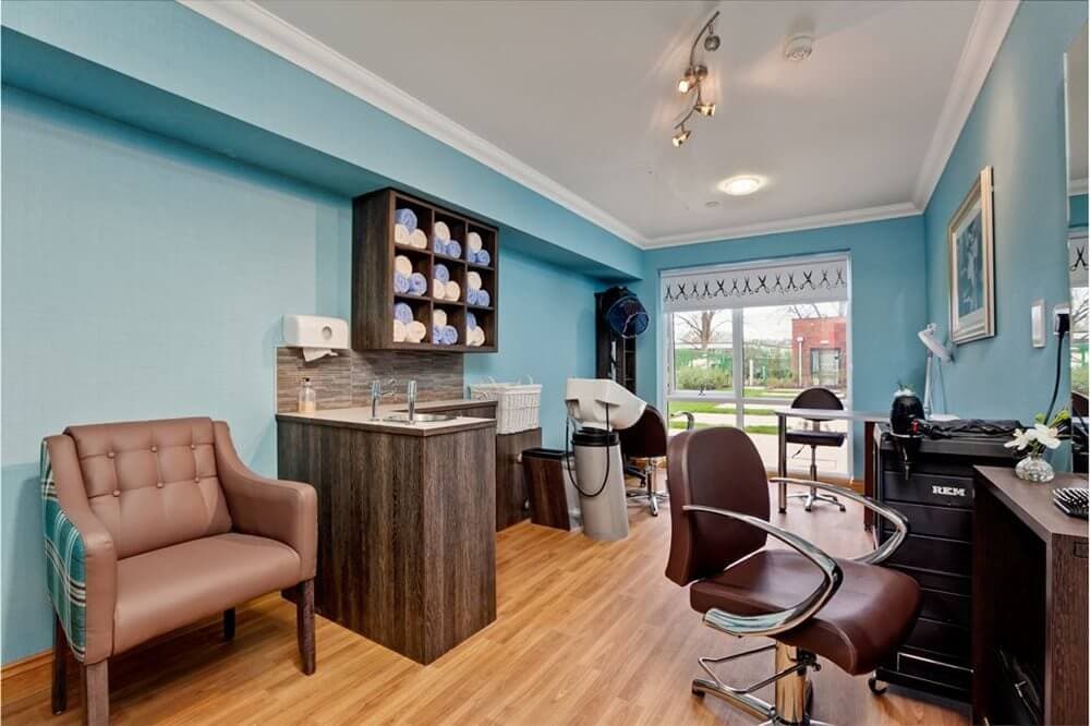
{"type": "Polygon", "coordinates": [[[912,203],[920,209],[927,208],[931,201],[946,162],[954,153],[954,145],[961,135],[961,129],[965,128],[977,96],[992,70],[995,55],[1007,37],[1020,1],[981,0],[977,7],[977,15],[954,72],[954,81],[938,114],[938,124],[916,178],[912,203]]]}

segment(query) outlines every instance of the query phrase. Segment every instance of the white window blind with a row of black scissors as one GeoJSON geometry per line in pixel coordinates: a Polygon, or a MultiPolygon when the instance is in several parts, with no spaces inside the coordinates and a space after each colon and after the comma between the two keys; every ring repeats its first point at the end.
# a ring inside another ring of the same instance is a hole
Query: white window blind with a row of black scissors
{"type": "Polygon", "coordinates": [[[703,267],[662,275],[665,312],[836,302],[848,299],[848,258],[703,267]]]}

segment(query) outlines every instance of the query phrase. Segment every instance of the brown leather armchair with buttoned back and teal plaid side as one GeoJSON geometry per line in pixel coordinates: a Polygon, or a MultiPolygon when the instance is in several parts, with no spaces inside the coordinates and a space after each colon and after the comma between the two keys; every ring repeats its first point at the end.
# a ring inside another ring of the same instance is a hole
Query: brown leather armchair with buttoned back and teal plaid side
{"type": "Polygon", "coordinates": [[[109,721],[109,658],[175,628],[296,589],[303,673],[314,673],[317,499],[264,479],[227,424],[173,419],[70,426],[43,444],[44,528],[56,633],[53,712],[65,650],[82,663],[86,722],[109,721]]]}

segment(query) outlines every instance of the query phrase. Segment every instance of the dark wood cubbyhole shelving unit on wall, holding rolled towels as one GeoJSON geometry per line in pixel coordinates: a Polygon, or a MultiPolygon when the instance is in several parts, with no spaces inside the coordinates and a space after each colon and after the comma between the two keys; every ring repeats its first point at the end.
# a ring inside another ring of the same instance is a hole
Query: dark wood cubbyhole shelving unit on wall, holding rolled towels
{"type": "Polygon", "coordinates": [[[499,230],[495,227],[424,202],[393,189],[385,189],[352,201],[352,347],[356,350],[427,350],[449,353],[495,353],[499,350],[499,230]],[[409,208],[416,215],[416,227],[427,237],[427,249],[398,244],[393,240],[395,213],[409,208]],[[491,265],[469,263],[464,258],[436,254],[432,251],[432,230],[443,221],[450,237],[468,251],[470,232],[481,235],[483,249],[492,257],[491,265]],[[412,263],[413,271],[427,280],[427,294],[412,295],[393,291],[393,264],[398,255],[412,263]],[[436,265],[445,265],[450,279],[461,288],[459,300],[437,300],[432,295],[432,275],[436,265]],[[491,305],[469,305],[467,275],[481,276],[481,287],[488,291],[491,305]],[[393,304],[407,303],[413,317],[423,323],[427,334],[422,342],[395,342],[393,304]],[[432,319],[436,310],[447,313],[447,324],[458,329],[458,342],[440,346],[432,342],[432,319]],[[467,313],[472,313],[484,329],[483,346],[469,346],[467,313]]]}

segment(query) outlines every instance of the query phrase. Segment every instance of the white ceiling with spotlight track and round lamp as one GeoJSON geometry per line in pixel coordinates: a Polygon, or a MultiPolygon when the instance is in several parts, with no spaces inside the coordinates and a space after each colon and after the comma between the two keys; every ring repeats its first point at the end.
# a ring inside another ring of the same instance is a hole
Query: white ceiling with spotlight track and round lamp
{"type": "Polygon", "coordinates": [[[501,170],[641,246],[916,213],[979,89],[961,87],[966,68],[982,83],[991,64],[973,43],[977,0],[256,4],[305,34],[293,43],[376,74],[419,116],[434,109],[423,124],[498,147],[501,170]],[[723,46],[705,61],[718,108],[677,149],[677,78],[715,10],[723,46]],[[814,52],[790,63],[782,48],[800,23],[814,52]],[[767,185],[716,191],[739,173],[767,185]]]}

